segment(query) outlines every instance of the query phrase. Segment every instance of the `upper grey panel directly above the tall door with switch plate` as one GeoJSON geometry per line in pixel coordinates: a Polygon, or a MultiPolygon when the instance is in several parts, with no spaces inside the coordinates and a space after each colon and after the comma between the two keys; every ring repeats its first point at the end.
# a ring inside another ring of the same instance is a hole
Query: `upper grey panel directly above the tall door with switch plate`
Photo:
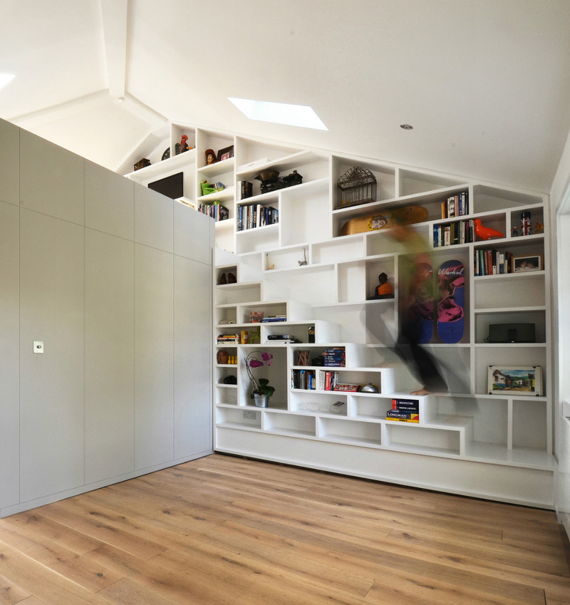
{"type": "Polygon", "coordinates": [[[84,224],[83,157],[26,130],[20,133],[21,206],[84,224]]]}

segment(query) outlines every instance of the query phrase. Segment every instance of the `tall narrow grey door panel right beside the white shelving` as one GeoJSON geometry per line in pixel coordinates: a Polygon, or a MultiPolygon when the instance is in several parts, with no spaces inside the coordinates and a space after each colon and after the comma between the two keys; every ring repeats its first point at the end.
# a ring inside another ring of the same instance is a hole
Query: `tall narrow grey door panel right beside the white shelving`
{"type": "Polygon", "coordinates": [[[175,458],[212,449],[212,271],[175,257],[175,458]]]}

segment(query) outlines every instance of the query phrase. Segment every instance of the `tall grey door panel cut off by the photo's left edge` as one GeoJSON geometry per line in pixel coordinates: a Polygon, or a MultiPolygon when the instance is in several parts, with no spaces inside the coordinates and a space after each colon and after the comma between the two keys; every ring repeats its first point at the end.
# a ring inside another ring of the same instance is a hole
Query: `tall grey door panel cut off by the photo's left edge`
{"type": "Polygon", "coordinates": [[[19,215],[0,202],[0,507],[19,502],[19,215]]]}

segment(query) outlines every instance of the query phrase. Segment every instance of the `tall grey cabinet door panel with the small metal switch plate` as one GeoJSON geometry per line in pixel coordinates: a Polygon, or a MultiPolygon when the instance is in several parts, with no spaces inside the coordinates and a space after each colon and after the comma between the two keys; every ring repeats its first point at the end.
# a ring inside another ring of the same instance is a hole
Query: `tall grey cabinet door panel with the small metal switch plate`
{"type": "Polygon", "coordinates": [[[21,209],[22,501],[84,482],[83,249],[83,227],[21,209]]]}

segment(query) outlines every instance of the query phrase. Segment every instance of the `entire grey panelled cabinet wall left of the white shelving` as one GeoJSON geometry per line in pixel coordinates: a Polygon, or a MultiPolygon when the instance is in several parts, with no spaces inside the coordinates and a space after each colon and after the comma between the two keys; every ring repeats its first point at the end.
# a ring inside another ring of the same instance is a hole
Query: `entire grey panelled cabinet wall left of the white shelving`
{"type": "Polygon", "coordinates": [[[0,143],[0,516],[211,453],[212,219],[0,143]]]}

